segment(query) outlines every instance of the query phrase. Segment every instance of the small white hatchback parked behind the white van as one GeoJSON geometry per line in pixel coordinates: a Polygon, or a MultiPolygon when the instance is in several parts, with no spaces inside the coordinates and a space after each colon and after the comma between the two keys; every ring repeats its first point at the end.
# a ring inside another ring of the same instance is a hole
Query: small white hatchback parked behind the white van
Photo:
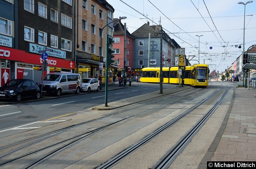
{"type": "Polygon", "coordinates": [[[89,93],[91,90],[100,91],[99,80],[96,78],[82,78],[82,91],[89,93]]]}

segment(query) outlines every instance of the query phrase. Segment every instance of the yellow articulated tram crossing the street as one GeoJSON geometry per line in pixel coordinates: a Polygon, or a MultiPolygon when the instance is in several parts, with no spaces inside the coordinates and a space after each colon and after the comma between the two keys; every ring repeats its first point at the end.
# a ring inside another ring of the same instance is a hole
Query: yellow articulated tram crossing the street
{"type": "MultiPolygon", "coordinates": [[[[209,67],[207,64],[185,66],[184,85],[208,86],[209,67]]],[[[179,67],[163,67],[163,83],[179,84],[179,67]]],[[[160,68],[143,68],[140,82],[160,83],[160,68]]]]}

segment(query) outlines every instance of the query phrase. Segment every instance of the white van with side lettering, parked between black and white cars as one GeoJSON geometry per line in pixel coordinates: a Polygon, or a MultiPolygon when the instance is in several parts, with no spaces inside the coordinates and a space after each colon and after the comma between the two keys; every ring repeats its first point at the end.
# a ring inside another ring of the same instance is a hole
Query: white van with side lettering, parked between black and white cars
{"type": "Polygon", "coordinates": [[[38,83],[38,86],[43,93],[55,94],[56,96],[65,92],[79,94],[81,79],[81,75],[77,73],[49,73],[44,77],[43,90],[42,81],[38,83]]]}

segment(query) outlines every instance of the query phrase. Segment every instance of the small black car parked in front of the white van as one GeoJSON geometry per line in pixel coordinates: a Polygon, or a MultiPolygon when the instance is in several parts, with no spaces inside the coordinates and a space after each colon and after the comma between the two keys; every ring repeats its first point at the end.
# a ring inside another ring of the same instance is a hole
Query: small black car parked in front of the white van
{"type": "Polygon", "coordinates": [[[14,79],[0,87],[0,99],[15,99],[20,101],[22,98],[34,97],[39,99],[41,92],[33,80],[14,79]]]}

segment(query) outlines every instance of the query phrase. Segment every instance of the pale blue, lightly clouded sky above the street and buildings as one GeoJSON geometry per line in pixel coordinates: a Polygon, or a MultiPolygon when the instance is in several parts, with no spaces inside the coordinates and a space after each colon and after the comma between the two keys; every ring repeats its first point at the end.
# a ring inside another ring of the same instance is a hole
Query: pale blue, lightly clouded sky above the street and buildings
{"type": "Polygon", "coordinates": [[[248,2],[241,0],[107,0],[107,2],[115,9],[114,18],[127,17],[121,22],[126,23],[130,33],[148,21],[150,26],[162,25],[164,31],[181,48],[185,48],[185,54],[188,60],[191,60],[191,64],[198,63],[193,60],[198,60],[199,46],[199,61],[208,64],[210,71],[216,70],[219,73],[225,71],[243,53],[243,47],[246,51],[256,44],[256,0],[246,5],[237,4],[248,2]],[[196,35],[203,35],[200,36],[200,45],[199,37],[196,35]],[[236,45],[241,45],[241,48],[236,45]]]}

